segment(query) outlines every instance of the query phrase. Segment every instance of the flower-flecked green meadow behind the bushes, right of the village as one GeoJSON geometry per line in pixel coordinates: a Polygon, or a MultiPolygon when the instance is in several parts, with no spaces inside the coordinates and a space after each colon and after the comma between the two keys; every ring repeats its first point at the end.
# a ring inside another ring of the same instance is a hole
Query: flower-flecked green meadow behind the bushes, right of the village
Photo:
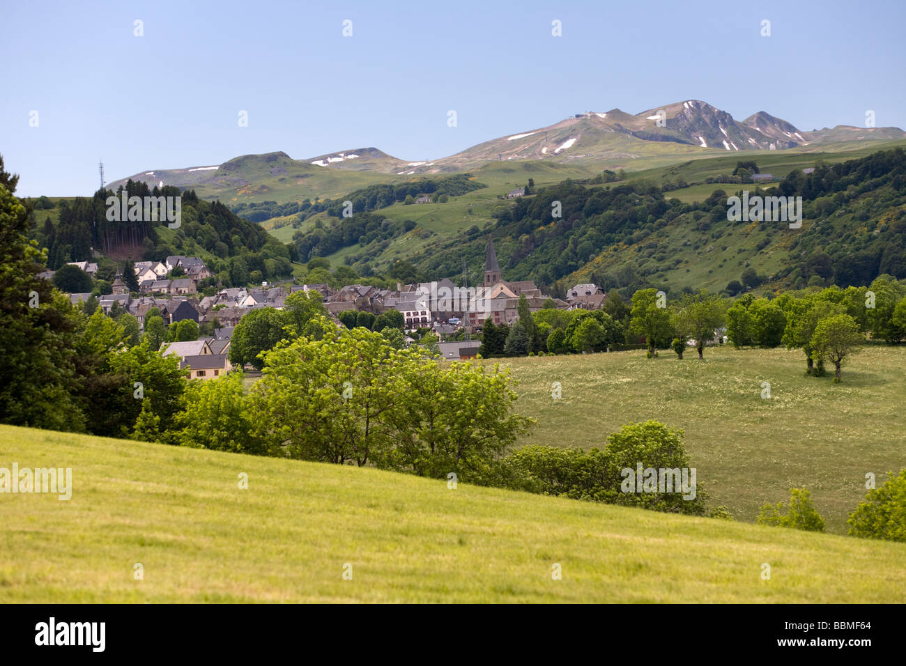
{"type": "MultiPolygon", "coordinates": [[[[670,350],[494,359],[519,382],[516,410],[537,426],[525,443],[602,448],[630,421],[685,431],[698,483],[713,504],[754,521],[766,502],[808,487],[830,532],[877,485],[906,467],[906,347],[869,345],[843,365],[843,382],[805,376],[805,354],[709,347],[683,361],[670,350]],[[563,397],[552,398],[551,385],[563,397]],[[761,397],[762,382],[770,400],[761,397]]],[[[831,366],[833,369],[833,366],[831,366]]]]}

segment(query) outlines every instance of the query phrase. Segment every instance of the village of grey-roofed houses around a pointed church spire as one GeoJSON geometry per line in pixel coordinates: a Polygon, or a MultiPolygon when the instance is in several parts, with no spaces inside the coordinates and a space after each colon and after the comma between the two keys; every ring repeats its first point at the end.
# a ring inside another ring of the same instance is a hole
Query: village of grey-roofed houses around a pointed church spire
{"type": "MultiPolygon", "coordinates": [[[[97,272],[97,264],[72,262],[88,275],[97,272]]],[[[402,315],[407,345],[419,343],[427,331],[437,335],[440,356],[447,360],[475,358],[480,333],[488,319],[496,325],[518,319],[517,305],[525,296],[529,310],[545,307],[560,310],[597,310],[607,295],[593,284],[574,285],[565,299],[546,295],[531,280],[506,281],[497,261],[493,238],[487,241],[484,280],[474,287],[459,286],[447,278],[434,282],[403,285],[385,289],[374,285],[344,285],[333,289],[326,284],[279,285],[262,283],[256,287],[229,287],[213,295],[201,294],[198,284],[211,276],[198,256],[168,256],[164,261],[141,261],[135,264],[138,294],[130,293],[117,275],[111,294],[101,294],[98,305],[104,314],[132,314],[144,331],[149,312],[159,314],[169,326],[183,320],[209,324],[213,335],[196,341],[169,343],[166,354],[176,355],[180,367],[188,370],[189,379],[212,379],[235,368],[228,360],[230,337],[239,320],[258,308],[284,308],[286,296],[297,291],[314,291],[321,295],[324,307],[334,323],[342,325],[342,313],[370,313],[375,316],[395,310],[402,315]],[[210,324],[214,324],[213,327],[210,324]],[[420,335],[419,335],[420,333],[420,335]]],[[[50,278],[52,272],[43,274],[50,278]]],[[[72,304],[88,302],[92,293],[70,294],[72,304]]]]}

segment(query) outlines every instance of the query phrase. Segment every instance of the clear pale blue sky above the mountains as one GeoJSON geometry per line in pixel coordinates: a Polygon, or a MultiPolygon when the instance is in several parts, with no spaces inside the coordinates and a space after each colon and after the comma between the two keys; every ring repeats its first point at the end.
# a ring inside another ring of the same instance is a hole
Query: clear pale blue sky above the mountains
{"type": "Polygon", "coordinates": [[[863,6],[16,3],[2,10],[0,154],[20,196],[72,196],[97,188],[101,158],[108,181],[275,150],[438,159],[573,113],[688,99],[801,130],[863,125],[866,110],[906,128],[906,4],[863,6]]]}

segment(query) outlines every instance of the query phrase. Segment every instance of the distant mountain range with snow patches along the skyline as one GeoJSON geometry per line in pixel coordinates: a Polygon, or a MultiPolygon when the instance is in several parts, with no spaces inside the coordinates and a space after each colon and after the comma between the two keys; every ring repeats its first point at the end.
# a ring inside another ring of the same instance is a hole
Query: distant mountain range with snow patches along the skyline
{"type": "MultiPolygon", "coordinates": [[[[441,159],[408,161],[377,148],[359,148],[292,159],[284,152],[243,156],[219,165],[184,169],[149,169],[133,174],[133,181],[179,188],[236,188],[240,194],[254,194],[255,179],[246,169],[248,158],[259,158],[270,176],[291,174],[304,186],[317,169],[358,171],[395,176],[456,172],[475,169],[487,162],[541,160],[554,163],[600,162],[606,167],[625,167],[632,160],[652,156],[712,155],[746,150],[824,150],[830,144],[848,141],[889,141],[906,138],[895,127],[859,128],[837,125],[832,129],[805,131],[792,123],[758,111],[737,121],[727,111],[705,101],[687,100],[652,107],[630,114],[619,109],[576,113],[547,127],[518,130],[479,143],[441,159]],[[243,188],[251,187],[248,191],[243,188]]],[[[110,184],[117,188],[127,179],[110,184]]],[[[361,185],[364,183],[356,183],[361,185]]],[[[318,193],[315,193],[317,196],[318,193]]]]}

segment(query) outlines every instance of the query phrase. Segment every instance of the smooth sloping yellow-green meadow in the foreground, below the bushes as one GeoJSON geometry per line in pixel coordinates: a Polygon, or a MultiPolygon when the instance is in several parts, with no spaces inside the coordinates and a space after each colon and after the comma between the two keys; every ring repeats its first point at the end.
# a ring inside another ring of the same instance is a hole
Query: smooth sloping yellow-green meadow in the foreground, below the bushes
{"type": "Polygon", "coordinates": [[[0,426],[13,462],[73,490],[0,495],[0,603],[906,602],[903,544],[0,426]]]}

